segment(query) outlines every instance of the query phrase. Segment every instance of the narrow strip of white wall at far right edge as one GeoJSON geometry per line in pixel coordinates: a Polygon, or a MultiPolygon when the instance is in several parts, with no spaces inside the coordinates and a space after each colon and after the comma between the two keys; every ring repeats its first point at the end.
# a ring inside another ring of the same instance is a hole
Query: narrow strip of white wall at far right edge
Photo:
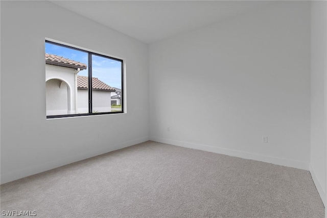
{"type": "MultiPolygon", "coordinates": [[[[326,205],[327,2],[311,3],[311,164],[310,172],[326,205]]],[[[327,214],[326,214],[327,215],[327,214]]]]}

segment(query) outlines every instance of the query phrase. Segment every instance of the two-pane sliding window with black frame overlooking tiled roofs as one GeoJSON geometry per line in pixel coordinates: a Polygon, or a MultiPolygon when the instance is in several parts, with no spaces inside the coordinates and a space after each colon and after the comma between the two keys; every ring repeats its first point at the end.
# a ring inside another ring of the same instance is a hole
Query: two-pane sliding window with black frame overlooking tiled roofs
{"type": "Polygon", "coordinates": [[[45,78],[46,118],[123,113],[121,59],[45,40],[45,78]]]}

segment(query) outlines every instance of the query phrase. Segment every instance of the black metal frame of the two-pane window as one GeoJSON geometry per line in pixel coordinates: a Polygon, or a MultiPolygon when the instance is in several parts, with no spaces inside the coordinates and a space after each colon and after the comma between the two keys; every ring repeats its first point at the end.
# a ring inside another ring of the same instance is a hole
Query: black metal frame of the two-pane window
{"type": "Polygon", "coordinates": [[[124,96],[124,60],[123,59],[110,57],[110,56],[107,56],[107,55],[103,55],[103,54],[91,52],[91,51],[84,50],[84,49],[75,48],[75,47],[72,47],[72,46],[63,45],[61,43],[50,41],[50,40],[47,40],[47,39],[45,39],[45,42],[46,43],[52,43],[52,44],[57,45],[57,46],[66,47],[66,48],[69,48],[69,49],[74,49],[74,50],[82,51],[82,52],[87,53],[87,55],[88,55],[88,65],[87,65],[87,70],[88,70],[88,113],[83,113],[83,114],[48,115],[48,116],[46,116],[46,119],[64,118],[64,117],[96,116],[96,115],[104,115],[104,114],[124,114],[124,97],[123,97],[124,96]],[[96,55],[96,56],[100,56],[100,57],[104,57],[104,58],[109,58],[111,60],[115,60],[115,61],[120,61],[121,62],[121,80],[122,80],[121,81],[122,82],[122,88],[121,88],[121,90],[122,90],[121,91],[122,100],[121,100],[121,105],[122,105],[122,111],[118,111],[118,112],[97,112],[97,113],[92,113],[92,89],[90,89],[90,87],[92,87],[92,55],[96,55]]]}

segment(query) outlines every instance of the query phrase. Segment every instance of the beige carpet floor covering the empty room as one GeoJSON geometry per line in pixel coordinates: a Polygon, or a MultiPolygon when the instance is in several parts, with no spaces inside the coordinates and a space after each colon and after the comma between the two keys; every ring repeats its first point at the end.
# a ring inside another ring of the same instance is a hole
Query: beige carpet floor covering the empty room
{"type": "Polygon", "coordinates": [[[324,217],[309,171],[148,141],[1,185],[36,217],[324,217]]]}

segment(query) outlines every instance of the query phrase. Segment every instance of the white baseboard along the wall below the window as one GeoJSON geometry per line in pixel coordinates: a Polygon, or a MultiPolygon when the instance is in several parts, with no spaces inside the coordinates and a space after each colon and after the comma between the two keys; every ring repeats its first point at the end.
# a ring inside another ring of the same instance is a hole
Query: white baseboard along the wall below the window
{"type": "Polygon", "coordinates": [[[44,172],[46,170],[64,166],[66,164],[71,164],[71,163],[81,161],[81,160],[84,160],[87,158],[102,155],[102,154],[105,154],[105,153],[113,151],[113,150],[118,150],[121,148],[125,148],[125,147],[129,147],[129,146],[132,146],[135,144],[146,142],[148,140],[149,140],[148,137],[144,137],[141,139],[135,139],[132,141],[127,141],[127,142],[123,142],[123,143],[115,144],[115,145],[111,145],[111,146],[103,146],[102,148],[92,150],[89,152],[84,152],[84,153],[81,153],[81,154],[78,154],[75,156],[69,156],[69,157],[57,159],[56,161],[43,163],[42,165],[34,165],[34,166],[26,167],[23,169],[15,170],[13,172],[1,175],[1,184],[11,182],[14,180],[18,180],[18,179],[21,179],[24,177],[28,177],[28,176],[34,175],[36,173],[39,173],[39,172],[44,172]]]}

